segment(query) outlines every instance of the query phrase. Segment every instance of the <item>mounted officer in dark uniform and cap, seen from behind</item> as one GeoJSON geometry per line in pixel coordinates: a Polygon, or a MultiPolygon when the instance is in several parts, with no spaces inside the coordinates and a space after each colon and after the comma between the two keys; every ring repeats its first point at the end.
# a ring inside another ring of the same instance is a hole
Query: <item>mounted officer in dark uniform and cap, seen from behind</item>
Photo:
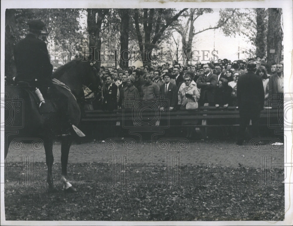
{"type": "Polygon", "coordinates": [[[28,83],[31,89],[40,99],[40,107],[45,104],[44,96],[58,106],[63,129],[73,127],[79,136],[85,136],[69,120],[69,99],[66,93],[57,89],[52,83],[53,66],[45,42],[39,39],[41,30],[45,24],[40,20],[28,22],[29,33],[16,43],[14,47],[14,61],[16,64],[16,83],[20,81],[28,83]]]}

